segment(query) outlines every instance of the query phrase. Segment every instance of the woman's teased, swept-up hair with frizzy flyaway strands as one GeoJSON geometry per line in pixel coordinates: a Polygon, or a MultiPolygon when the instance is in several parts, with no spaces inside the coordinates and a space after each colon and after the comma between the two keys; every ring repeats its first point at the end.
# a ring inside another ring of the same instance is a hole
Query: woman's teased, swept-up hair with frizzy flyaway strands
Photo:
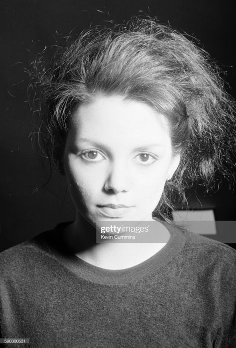
{"type": "Polygon", "coordinates": [[[90,28],[69,41],[51,59],[40,55],[31,74],[39,103],[36,135],[60,173],[74,108],[102,93],[147,103],[169,121],[172,148],[181,160],[166,181],[157,216],[165,219],[174,191],[183,196],[197,179],[209,187],[217,170],[232,174],[235,104],[219,68],[192,39],[156,18],[135,17],[90,28]]]}

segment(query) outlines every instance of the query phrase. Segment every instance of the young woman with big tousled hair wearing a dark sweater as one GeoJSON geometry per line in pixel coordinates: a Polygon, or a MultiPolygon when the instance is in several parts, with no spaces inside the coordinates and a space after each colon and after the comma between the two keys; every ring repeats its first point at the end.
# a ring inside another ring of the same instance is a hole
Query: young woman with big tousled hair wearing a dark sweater
{"type": "Polygon", "coordinates": [[[236,347],[236,252],[166,215],[174,189],[207,184],[230,162],[233,102],[206,54],[139,18],[83,32],[35,72],[38,133],[77,215],[1,253],[2,336],[30,347],[236,347]],[[153,219],[162,243],[96,243],[101,221],[153,219]]]}

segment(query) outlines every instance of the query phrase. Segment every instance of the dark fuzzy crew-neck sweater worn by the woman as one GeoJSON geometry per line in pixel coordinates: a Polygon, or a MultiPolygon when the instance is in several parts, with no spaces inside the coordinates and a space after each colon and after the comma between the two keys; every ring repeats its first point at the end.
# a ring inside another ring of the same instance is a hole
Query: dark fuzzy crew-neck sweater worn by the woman
{"type": "Polygon", "coordinates": [[[42,348],[236,348],[234,249],[169,228],[153,257],[108,270],[64,253],[61,231],[0,254],[2,337],[42,348]]]}

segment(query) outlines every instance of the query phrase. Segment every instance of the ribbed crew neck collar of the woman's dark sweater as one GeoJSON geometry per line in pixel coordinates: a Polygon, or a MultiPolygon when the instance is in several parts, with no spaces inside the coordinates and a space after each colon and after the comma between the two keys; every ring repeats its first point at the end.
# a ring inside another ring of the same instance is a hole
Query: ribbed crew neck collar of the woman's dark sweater
{"type": "Polygon", "coordinates": [[[171,261],[183,249],[186,242],[184,231],[164,223],[170,233],[170,239],[160,251],[135,266],[124,269],[106,269],[83,261],[74,254],[62,252],[62,245],[58,243],[58,239],[60,239],[63,229],[70,223],[72,222],[60,223],[51,231],[54,237],[50,238],[50,251],[75,275],[99,284],[123,285],[150,276],[171,261]],[[58,247],[59,245],[60,247],[58,247]]]}

